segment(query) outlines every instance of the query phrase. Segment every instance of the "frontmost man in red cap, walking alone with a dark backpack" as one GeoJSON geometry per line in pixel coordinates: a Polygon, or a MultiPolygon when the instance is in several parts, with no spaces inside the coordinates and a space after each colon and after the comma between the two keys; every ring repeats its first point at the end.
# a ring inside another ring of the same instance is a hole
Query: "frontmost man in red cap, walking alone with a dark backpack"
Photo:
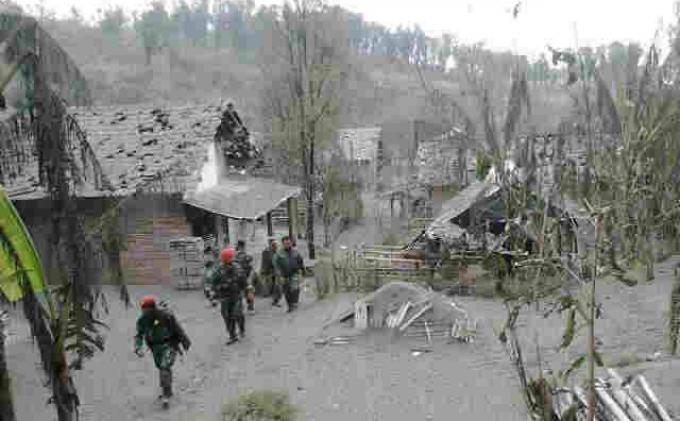
{"type": "Polygon", "coordinates": [[[191,341],[184,333],[175,316],[159,308],[156,297],[147,295],[140,302],[142,315],[137,320],[137,334],[135,335],[135,354],[144,356],[143,344],[151,350],[153,361],[160,374],[162,394],[159,396],[164,407],[172,397],[172,366],[178,352],[189,350],[191,341]]]}

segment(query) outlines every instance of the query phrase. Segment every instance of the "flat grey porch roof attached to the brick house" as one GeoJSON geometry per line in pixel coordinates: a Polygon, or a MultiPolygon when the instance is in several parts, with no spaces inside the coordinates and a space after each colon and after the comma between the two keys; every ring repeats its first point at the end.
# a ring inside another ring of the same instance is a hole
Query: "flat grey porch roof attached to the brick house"
{"type": "Polygon", "coordinates": [[[252,220],[300,193],[300,187],[262,178],[237,177],[220,180],[216,186],[200,192],[188,191],[184,202],[218,215],[252,220]]]}

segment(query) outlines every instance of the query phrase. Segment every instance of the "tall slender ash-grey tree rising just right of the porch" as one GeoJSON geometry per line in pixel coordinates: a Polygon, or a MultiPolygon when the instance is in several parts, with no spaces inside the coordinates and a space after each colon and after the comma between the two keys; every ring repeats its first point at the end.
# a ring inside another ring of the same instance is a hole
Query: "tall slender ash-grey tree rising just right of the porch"
{"type": "Polygon", "coordinates": [[[319,0],[286,3],[262,52],[265,104],[276,146],[295,170],[306,200],[306,239],[315,258],[314,202],[317,154],[334,135],[338,92],[346,71],[347,36],[340,9],[319,0]]]}

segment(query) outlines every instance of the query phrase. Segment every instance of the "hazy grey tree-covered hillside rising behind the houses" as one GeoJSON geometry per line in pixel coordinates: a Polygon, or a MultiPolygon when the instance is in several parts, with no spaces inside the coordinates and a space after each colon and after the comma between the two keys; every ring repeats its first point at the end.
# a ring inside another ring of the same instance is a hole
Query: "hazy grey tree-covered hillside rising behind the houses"
{"type": "MultiPolygon", "coordinates": [[[[266,130],[262,117],[262,87],[266,81],[252,55],[243,58],[233,49],[179,43],[155,52],[147,66],[144,48],[129,28],[113,39],[97,27],[69,20],[47,21],[45,27],[78,63],[97,104],[231,99],[254,130],[266,130]]],[[[413,119],[445,124],[450,121],[448,111],[431,105],[415,66],[393,58],[355,54],[350,69],[342,98],[342,126],[375,126],[413,119]]],[[[425,78],[446,98],[459,102],[479,124],[477,99],[466,92],[460,77],[430,70],[425,71],[425,78]]],[[[492,92],[499,126],[509,94],[509,72],[500,79],[492,92]]],[[[571,101],[567,92],[555,84],[532,84],[530,94],[533,113],[521,123],[523,129],[556,130],[568,115],[571,101]]],[[[477,132],[481,131],[478,127],[477,132]]]]}

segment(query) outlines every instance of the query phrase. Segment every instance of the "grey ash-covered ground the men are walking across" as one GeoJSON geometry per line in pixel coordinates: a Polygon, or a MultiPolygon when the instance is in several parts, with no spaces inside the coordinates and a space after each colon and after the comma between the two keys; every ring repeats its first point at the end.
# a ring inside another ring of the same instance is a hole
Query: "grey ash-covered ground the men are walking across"
{"type": "MultiPolygon", "coordinates": [[[[669,271],[669,266],[660,267],[655,283],[633,289],[602,285],[605,318],[599,333],[606,356],[663,350],[669,271]]],[[[257,314],[248,318],[248,338],[226,347],[222,321],[205,306],[199,292],[162,287],[131,290],[135,298],[154,293],[169,299],[192,337],[193,348],[176,366],[178,397],[167,412],[156,406],[157,374],[151,358],[137,359],[132,353],[137,312],[125,310],[109,291],[106,352],[76,376],[83,420],[217,421],[223,401],[256,388],[287,390],[308,421],[525,419],[512,367],[494,333],[505,314],[498,302],[460,300],[480,319],[477,341],[470,345],[435,343],[433,352],[416,357],[410,350],[422,346],[421,342],[380,334],[360,337],[350,345],[316,347],[313,340],[324,322],[351,302],[352,296],[315,302],[307,295],[293,314],[259,300],[257,314]]],[[[522,323],[532,320],[525,317],[522,323]]],[[[542,345],[554,348],[562,321],[549,318],[540,323],[542,345]]],[[[18,419],[51,420],[53,411],[44,404],[48,394],[27,327],[18,318],[11,329],[15,336],[8,354],[18,419]]],[[[532,330],[523,332],[525,351],[531,358],[532,330]]],[[[577,344],[573,352],[579,349],[577,344]]],[[[556,369],[568,361],[550,351],[545,358],[556,369]]],[[[678,360],[664,359],[626,371],[643,371],[664,404],[680,413],[679,369],[678,360]]]]}

